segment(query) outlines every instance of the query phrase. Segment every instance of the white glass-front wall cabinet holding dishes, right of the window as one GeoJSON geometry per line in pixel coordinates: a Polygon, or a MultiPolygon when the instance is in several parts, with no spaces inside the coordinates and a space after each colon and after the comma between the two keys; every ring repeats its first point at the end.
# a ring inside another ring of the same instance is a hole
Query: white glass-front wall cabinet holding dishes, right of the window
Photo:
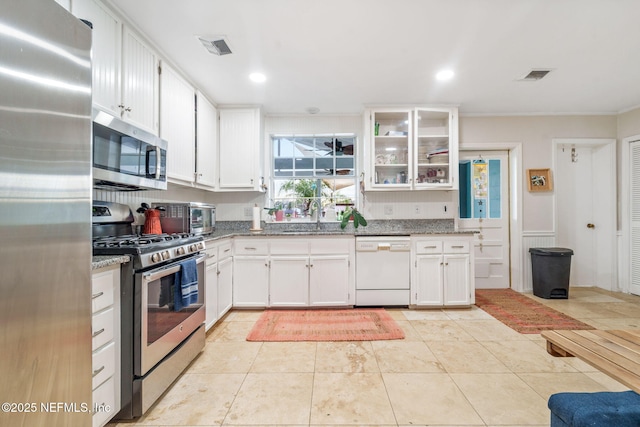
{"type": "Polygon", "coordinates": [[[369,190],[458,185],[457,108],[371,109],[369,190]]]}

